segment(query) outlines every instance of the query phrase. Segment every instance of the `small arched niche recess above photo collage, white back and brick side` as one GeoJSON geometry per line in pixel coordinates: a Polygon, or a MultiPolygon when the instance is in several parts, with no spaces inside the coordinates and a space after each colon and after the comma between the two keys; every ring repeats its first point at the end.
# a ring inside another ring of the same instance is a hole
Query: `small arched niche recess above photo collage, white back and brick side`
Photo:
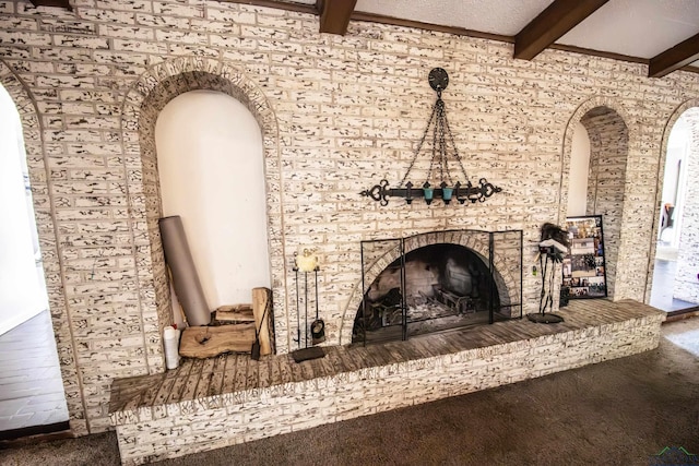
{"type": "Polygon", "coordinates": [[[628,128],[619,113],[597,106],[574,127],[571,145],[567,215],[602,216],[606,290],[611,298],[621,235],[628,141],[628,128]]]}

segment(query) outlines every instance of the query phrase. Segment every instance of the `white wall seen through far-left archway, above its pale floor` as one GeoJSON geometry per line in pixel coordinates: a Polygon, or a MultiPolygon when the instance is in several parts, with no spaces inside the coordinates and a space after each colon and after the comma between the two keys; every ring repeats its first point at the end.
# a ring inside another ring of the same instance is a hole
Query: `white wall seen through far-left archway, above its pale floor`
{"type": "Polygon", "coordinates": [[[48,309],[20,115],[0,86],[0,335],[48,309]]]}

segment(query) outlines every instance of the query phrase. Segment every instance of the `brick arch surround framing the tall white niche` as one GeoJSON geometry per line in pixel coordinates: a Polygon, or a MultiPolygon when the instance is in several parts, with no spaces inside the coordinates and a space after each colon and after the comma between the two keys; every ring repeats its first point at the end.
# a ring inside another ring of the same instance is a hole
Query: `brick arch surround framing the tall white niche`
{"type": "MultiPolygon", "coordinates": [[[[201,57],[180,57],[158,63],[131,87],[122,111],[125,164],[129,211],[134,226],[141,313],[150,325],[145,335],[149,370],[163,370],[161,334],[171,323],[169,289],[157,220],[162,216],[155,123],[161,110],[180,94],[208,89],[227,94],[244,104],[258,121],[262,133],[270,262],[275,325],[286,320],[284,247],[281,237],[282,200],[276,117],[263,92],[242,71],[228,63],[201,57]]],[[[284,351],[283,340],[277,350],[284,351]]]]}

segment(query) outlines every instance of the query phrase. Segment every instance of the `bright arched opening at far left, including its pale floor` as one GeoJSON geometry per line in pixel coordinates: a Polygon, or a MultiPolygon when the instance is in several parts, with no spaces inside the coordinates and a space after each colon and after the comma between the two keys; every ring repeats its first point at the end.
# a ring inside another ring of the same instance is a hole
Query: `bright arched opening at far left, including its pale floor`
{"type": "Polygon", "coordinates": [[[68,429],[20,115],[0,86],[0,434],[68,429]]]}

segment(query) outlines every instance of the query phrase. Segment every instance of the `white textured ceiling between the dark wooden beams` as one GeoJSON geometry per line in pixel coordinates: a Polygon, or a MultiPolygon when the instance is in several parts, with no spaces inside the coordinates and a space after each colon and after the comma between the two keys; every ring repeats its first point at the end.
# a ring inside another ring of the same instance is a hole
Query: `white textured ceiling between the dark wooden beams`
{"type": "MultiPolygon", "coordinates": [[[[288,1],[316,4],[316,0],[288,1]]],[[[354,10],[512,37],[552,2],[357,0],[354,10]]],[[[698,33],[699,0],[609,0],[555,44],[648,60],[698,33]]],[[[699,61],[692,65],[698,67],[699,61]]]]}

